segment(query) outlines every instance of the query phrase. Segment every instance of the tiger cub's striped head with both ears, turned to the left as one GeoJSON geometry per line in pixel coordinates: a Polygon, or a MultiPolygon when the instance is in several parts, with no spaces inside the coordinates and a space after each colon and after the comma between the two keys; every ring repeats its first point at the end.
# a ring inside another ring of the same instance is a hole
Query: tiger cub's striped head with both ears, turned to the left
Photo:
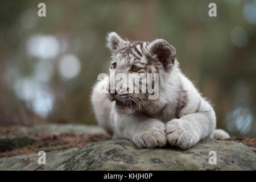
{"type": "Polygon", "coordinates": [[[108,98],[122,113],[146,109],[148,100],[158,98],[159,77],[172,71],[175,48],[163,39],[129,42],[115,32],[109,34],[107,46],[112,51],[108,98]]]}

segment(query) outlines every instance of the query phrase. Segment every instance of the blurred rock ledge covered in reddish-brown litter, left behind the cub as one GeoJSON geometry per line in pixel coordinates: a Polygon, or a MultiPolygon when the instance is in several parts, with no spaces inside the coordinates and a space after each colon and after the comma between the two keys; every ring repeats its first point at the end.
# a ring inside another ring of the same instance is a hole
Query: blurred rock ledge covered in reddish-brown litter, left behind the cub
{"type": "Polygon", "coordinates": [[[98,126],[48,124],[34,126],[0,126],[0,158],[35,154],[39,151],[63,152],[110,139],[98,126]]]}

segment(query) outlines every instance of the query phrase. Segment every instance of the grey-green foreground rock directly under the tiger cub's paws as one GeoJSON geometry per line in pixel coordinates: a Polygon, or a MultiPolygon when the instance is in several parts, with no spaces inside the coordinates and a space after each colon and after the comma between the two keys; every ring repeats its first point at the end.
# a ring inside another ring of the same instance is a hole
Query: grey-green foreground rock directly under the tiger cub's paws
{"type": "Polygon", "coordinates": [[[243,143],[205,139],[188,150],[166,146],[139,149],[126,139],[92,143],[64,152],[47,152],[46,165],[37,154],[0,159],[0,170],[256,170],[255,148],[243,143]],[[216,164],[209,164],[216,151],[216,164]]]}

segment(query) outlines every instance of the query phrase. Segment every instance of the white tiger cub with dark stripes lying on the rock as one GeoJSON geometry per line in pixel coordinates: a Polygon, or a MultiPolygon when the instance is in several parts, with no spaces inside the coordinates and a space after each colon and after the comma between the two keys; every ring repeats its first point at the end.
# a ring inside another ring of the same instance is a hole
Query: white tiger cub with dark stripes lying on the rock
{"type": "Polygon", "coordinates": [[[156,100],[148,100],[148,93],[99,93],[109,79],[94,85],[94,113],[98,124],[113,138],[130,139],[139,148],[163,147],[168,142],[183,150],[205,137],[229,138],[224,130],[215,130],[212,106],[181,73],[176,50],[166,40],[130,42],[112,32],[107,47],[112,51],[110,73],[159,74],[156,100]]]}

